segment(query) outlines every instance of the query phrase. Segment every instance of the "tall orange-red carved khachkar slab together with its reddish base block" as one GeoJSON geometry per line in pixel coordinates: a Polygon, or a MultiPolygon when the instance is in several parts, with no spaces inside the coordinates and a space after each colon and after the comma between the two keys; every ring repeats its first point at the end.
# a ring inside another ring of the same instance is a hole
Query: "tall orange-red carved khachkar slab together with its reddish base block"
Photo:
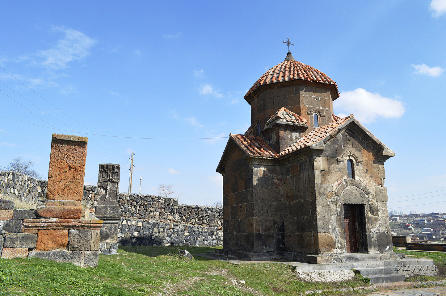
{"type": "Polygon", "coordinates": [[[48,187],[44,206],[37,214],[45,218],[79,219],[87,159],[85,137],[53,134],[48,187]]]}

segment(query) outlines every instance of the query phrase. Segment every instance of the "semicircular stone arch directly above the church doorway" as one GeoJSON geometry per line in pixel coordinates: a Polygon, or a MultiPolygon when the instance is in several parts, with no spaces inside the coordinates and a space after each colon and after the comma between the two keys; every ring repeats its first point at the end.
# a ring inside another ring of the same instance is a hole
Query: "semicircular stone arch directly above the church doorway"
{"type": "Polygon", "coordinates": [[[368,204],[370,190],[361,181],[344,180],[335,190],[341,204],[368,204]]]}

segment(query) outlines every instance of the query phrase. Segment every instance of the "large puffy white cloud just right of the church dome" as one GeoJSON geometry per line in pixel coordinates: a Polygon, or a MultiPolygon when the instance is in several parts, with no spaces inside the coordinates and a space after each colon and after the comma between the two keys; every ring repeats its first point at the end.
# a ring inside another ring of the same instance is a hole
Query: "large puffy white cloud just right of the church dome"
{"type": "MultiPolygon", "coordinates": [[[[342,113],[353,113],[361,123],[371,123],[377,117],[398,118],[405,108],[404,103],[396,99],[386,98],[378,93],[371,93],[363,88],[344,91],[335,101],[335,108],[342,113]]],[[[342,114],[344,115],[344,114],[342,114]]]]}

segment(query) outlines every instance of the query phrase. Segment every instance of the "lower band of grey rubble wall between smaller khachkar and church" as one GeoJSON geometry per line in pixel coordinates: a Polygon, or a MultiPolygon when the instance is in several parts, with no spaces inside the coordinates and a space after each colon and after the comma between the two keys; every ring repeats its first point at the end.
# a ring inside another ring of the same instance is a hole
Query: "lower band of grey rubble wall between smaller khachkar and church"
{"type": "Polygon", "coordinates": [[[223,231],[203,225],[121,218],[118,244],[217,247],[223,245],[223,231]]]}

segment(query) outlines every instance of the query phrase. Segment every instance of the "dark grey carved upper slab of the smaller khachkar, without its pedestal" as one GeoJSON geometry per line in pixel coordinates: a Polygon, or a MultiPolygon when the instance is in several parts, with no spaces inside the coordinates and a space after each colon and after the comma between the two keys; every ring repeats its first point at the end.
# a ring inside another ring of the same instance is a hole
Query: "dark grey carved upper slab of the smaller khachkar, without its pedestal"
{"type": "Polygon", "coordinates": [[[99,164],[98,201],[116,201],[117,204],[120,170],[119,164],[99,164]]]}

